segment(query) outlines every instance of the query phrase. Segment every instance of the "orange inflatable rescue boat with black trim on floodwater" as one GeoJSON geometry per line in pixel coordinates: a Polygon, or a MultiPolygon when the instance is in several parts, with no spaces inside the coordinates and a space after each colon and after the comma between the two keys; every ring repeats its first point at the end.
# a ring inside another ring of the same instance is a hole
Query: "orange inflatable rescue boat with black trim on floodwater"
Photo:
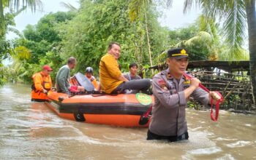
{"type": "MultiPolygon", "coordinates": [[[[77,73],[75,78],[79,84],[91,84],[83,74],[77,73]],[[80,81],[81,77],[83,81],[80,81]]],[[[148,127],[151,105],[154,103],[152,96],[143,93],[96,95],[89,91],[70,96],[49,92],[48,98],[50,101],[46,105],[64,119],[119,127],[148,127]]]]}

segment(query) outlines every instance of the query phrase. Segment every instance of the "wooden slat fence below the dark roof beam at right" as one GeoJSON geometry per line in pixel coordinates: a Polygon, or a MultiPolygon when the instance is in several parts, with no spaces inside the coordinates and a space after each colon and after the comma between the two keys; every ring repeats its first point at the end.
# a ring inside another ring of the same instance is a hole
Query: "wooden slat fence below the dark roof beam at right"
{"type": "Polygon", "coordinates": [[[238,73],[192,71],[190,73],[200,79],[202,84],[211,91],[222,93],[225,98],[222,108],[255,111],[252,101],[252,86],[249,76],[244,75],[243,71],[238,73]]]}

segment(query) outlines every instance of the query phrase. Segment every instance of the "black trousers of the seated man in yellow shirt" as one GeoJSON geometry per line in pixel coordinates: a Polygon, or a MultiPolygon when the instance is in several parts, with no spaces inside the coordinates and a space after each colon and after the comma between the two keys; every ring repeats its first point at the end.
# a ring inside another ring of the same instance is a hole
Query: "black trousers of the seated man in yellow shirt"
{"type": "Polygon", "coordinates": [[[135,79],[132,81],[124,81],[116,89],[113,90],[113,94],[123,93],[125,89],[138,90],[146,92],[151,86],[151,81],[149,79],[135,79]]]}

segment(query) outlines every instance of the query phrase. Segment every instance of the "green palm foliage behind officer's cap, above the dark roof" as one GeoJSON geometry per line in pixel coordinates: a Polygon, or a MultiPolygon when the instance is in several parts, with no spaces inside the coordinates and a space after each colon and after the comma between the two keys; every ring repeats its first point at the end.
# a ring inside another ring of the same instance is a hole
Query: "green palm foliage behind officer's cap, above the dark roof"
{"type": "MultiPolygon", "coordinates": [[[[200,15],[194,24],[169,32],[170,46],[184,47],[189,51],[189,60],[248,60],[245,49],[237,48],[238,55],[230,52],[230,45],[222,36],[222,30],[214,19],[200,15]]],[[[159,55],[159,61],[166,58],[159,55]]]]}

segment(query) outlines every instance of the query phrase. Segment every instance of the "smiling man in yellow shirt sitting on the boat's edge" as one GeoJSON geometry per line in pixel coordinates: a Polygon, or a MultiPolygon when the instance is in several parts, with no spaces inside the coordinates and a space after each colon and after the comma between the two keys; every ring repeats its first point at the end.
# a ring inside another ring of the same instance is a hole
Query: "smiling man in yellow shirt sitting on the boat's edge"
{"type": "Polygon", "coordinates": [[[149,79],[136,79],[129,81],[121,73],[118,67],[118,58],[121,55],[120,44],[112,42],[108,45],[108,53],[102,57],[99,63],[100,87],[108,94],[122,93],[126,89],[146,90],[151,86],[149,79]]]}

